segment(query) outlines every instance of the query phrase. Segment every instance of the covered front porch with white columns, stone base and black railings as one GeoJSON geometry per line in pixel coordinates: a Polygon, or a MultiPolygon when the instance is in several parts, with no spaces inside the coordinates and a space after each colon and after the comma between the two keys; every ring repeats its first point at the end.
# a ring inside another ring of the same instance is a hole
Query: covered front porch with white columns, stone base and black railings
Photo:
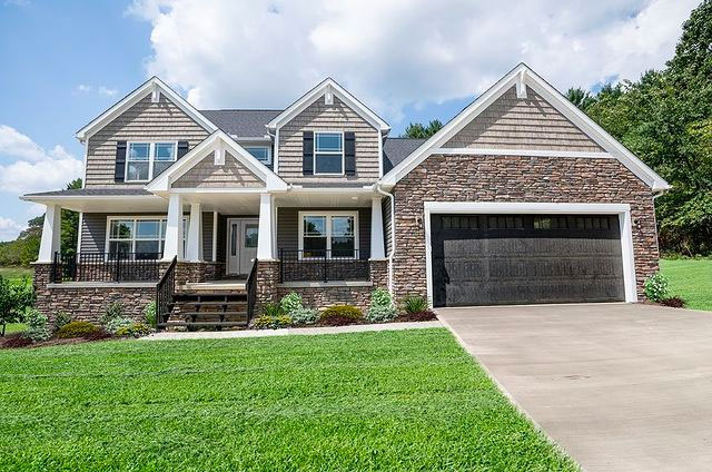
{"type": "Polygon", "coordinates": [[[36,281],[38,307],[50,317],[66,311],[97,322],[118,301],[131,304],[128,312],[138,318],[157,301],[161,324],[185,315],[196,326],[244,326],[263,304],[293,291],[318,308],[366,308],[374,287],[387,286],[382,201],[370,188],[336,197],[318,190],[178,191],[162,213],[112,215],[71,205],[82,212],[79,252],[71,256],[61,254],[57,237],[66,207],[48,205],[36,263],[44,274],[36,281]],[[224,298],[208,299],[208,291],[224,298]],[[195,309],[178,309],[178,301],[195,309]],[[209,305],[239,319],[202,319],[215,313],[204,309],[209,305]]]}

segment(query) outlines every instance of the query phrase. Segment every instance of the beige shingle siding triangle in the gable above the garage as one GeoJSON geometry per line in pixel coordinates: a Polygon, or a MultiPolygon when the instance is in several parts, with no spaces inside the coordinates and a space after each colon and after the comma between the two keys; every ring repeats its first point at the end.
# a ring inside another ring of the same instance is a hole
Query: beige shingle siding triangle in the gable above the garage
{"type": "Polygon", "coordinates": [[[526,94],[526,99],[517,99],[512,87],[443,147],[603,153],[534,90],[526,94]]]}

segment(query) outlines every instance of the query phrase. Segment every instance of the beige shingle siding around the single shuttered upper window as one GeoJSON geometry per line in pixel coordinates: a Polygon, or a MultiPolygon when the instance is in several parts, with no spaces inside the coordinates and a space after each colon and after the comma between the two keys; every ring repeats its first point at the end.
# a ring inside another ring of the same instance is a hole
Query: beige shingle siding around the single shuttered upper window
{"type": "Polygon", "coordinates": [[[317,99],[291,121],[279,129],[279,176],[288,183],[307,181],[363,181],[378,179],[379,131],[368,121],[334,97],[334,105],[317,99]],[[303,131],[354,131],[356,137],[356,175],[344,177],[304,176],[303,131]]]}

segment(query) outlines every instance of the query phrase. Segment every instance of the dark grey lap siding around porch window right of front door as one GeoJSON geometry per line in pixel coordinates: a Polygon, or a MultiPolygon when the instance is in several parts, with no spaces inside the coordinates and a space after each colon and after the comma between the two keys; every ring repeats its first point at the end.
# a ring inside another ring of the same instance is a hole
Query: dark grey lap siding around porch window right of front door
{"type": "Polygon", "coordinates": [[[299,212],[358,212],[360,258],[370,257],[370,208],[277,208],[277,250],[299,248],[299,212]]]}

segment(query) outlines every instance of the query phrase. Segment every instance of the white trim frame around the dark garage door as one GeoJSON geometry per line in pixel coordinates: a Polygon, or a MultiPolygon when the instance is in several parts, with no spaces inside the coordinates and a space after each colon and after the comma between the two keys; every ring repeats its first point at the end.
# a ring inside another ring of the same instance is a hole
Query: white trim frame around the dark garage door
{"type": "Polygon", "coordinates": [[[496,203],[496,201],[425,201],[425,264],[427,277],[427,299],[433,306],[433,260],[431,243],[431,215],[442,213],[463,214],[577,214],[619,215],[621,225],[621,254],[623,256],[623,283],[625,301],[637,302],[635,284],[635,260],[633,257],[633,229],[629,204],[548,204],[548,203],[496,203]]]}

